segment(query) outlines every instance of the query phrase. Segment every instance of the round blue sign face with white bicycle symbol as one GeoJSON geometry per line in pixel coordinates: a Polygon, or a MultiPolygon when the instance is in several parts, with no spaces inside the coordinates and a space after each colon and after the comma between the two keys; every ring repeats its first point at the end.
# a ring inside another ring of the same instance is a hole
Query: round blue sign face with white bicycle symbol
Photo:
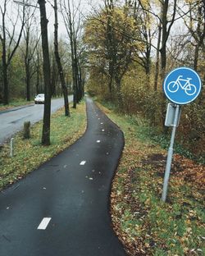
{"type": "Polygon", "coordinates": [[[179,67],[166,75],[163,83],[166,98],[179,105],[188,104],[198,97],[202,89],[201,79],[189,67],[179,67]]]}

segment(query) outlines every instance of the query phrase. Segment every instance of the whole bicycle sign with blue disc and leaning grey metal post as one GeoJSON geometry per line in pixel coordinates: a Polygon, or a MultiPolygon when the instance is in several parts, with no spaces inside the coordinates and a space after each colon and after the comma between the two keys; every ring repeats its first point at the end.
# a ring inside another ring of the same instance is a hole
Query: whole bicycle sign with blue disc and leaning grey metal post
{"type": "Polygon", "coordinates": [[[175,103],[168,105],[166,113],[166,126],[173,127],[162,191],[162,201],[166,202],[171,162],[174,152],[175,131],[180,121],[180,105],[193,102],[201,92],[202,83],[197,72],[188,67],[179,67],[166,76],[163,83],[163,89],[166,98],[171,100],[172,103],[175,103]]]}

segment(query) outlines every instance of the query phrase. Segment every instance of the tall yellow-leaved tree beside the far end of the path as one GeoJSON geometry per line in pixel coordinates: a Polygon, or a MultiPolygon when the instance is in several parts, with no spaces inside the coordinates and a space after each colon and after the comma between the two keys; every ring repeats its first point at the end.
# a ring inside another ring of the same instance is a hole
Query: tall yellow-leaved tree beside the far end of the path
{"type": "Polygon", "coordinates": [[[113,1],[104,1],[104,8],[87,21],[84,36],[90,62],[107,75],[110,93],[115,89],[119,107],[123,105],[122,78],[142,48],[139,28],[129,9],[130,3],[117,7],[113,1]]]}

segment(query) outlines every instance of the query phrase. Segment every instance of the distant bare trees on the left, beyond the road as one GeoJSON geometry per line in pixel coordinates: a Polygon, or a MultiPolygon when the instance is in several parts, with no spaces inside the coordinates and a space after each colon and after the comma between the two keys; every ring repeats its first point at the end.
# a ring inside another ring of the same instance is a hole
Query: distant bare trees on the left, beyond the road
{"type": "MultiPolygon", "coordinates": [[[[0,103],[3,104],[8,104],[13,98],[26,98],[27,101],[30,101],[34,99],[35,94],[44,92],[43,51],[38,1],[36,1],[36,5],[34,5],[34,1],[26,0],[25,5],[20,4],[21,2],[3,0],[0,5],[0,54],[2,57],[0,62],[0,103]]],[[[50,1],[47,5],[52,4],[54,7],[55,2],[50,1]]],[[[61,15],[60,2],[58,2],[57,12],[61,15]]],[[[57,40],[58,42],[53,38],[48,42],[51,94],[52,96],[62,95],[65,86],[68,93],[73,94],[76,88],[78,95],[76,96],[76,103],[79,103],[84,94],[85,80],[80,35],[75,34],[75,60],[77,63],[75,65],[77,68],[73,66],[74,53],[71,52],[68,36],[57,40]],[[55,48],[56,45],[58,48],[55,48]],[[64,87],[61,85],[62,73],[59,73],[58,70],[57,52],[61,58],[65,76],[64,87]],[[74,76],[75,80],[73,80],[74,76]]]]}

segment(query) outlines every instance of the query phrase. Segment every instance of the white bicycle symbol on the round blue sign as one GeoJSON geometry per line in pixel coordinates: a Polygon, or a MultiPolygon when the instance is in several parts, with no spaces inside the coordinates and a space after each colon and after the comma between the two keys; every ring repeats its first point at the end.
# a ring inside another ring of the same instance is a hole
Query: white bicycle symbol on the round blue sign
{"type": "Polygon", "coordinates": [[[191,96],[194,95],[197,91],[197,88],[195,85],[190,84],[190,80],[192,80],[192,78],[187,78],[187,79],[182,79],[181,77],[183,77],[183,75],[179,75],[177,80],[175,81],[171,81],[168,85],[167,85],[167,89],[171,92],[171,93],[175,93],[178,91],[178,89],[184,89],[185,90],[185,94],[191,96]],[[185,85],[181,85],[180,82],[185,82],[185,85]]]}

